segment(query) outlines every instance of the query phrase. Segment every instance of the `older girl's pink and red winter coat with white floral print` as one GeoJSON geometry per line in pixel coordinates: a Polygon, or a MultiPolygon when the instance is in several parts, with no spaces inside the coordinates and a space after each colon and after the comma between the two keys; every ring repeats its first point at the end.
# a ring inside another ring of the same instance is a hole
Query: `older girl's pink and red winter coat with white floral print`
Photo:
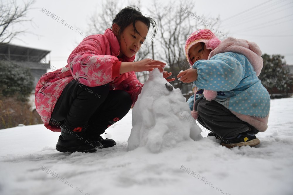
{"type": "Polygon", "coordinates": [[[126,91],[132,104],[135,103],[143,84],[137,80],[135,72],[119,73],[121,62],[132,62],[135,56],[118,58],[119,53],[119,42],[109,28],[104,34],[86,37],[71,52],[65,68],[42,75],[35,89],[35,105],[47,129],[61,131],[49,122],[63,89],[73,79],[89,87],[110,83],[110,90],[126,91]]]}

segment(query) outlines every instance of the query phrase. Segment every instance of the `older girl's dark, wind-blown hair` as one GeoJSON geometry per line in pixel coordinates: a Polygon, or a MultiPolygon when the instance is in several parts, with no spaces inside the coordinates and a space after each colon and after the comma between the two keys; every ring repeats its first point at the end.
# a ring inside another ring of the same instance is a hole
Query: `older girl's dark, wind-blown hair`
{"type": "MultiPolygon", "coordinates": [[[[153,18],[145,17],[140,12],[139,8],[137,6],[127,6],[120,10],[119,13],[115,16],[115,18],[112,21],[112,25],[116,23],[120,29],[118,31],[118,40],[120,39],[120,35],[122,34],[123,30],[129,26],[130,24],[133,24],[134,31],[139,34],[137,29],[135,28],[135,22],[139,20],[147,25],[147,29],[149,30],[149,27],[152,26],[154,29],[153,36],[151,39],[153,39],[156,36],[157,33],[157,24],[153,18]]],[[[123,38],[124,39],[124,38],[123,38]]],[[[119,40],[120,41],[120,40],[119,40]]]]}

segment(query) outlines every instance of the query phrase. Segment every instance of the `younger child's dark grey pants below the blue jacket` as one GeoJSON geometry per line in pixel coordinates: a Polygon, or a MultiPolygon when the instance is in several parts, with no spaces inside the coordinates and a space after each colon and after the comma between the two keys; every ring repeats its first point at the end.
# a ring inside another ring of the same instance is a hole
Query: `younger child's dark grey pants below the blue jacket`
{"type": "Polygon", "coordinates": [[[195,101],[195,110],[198,112],[197,121],[208,130],[223,137],[233,137],[242,132],[252,130],[254,134],[259,131],[252,125],[237,118],[229,109],[212,100],[200,98],[195,101]]]}

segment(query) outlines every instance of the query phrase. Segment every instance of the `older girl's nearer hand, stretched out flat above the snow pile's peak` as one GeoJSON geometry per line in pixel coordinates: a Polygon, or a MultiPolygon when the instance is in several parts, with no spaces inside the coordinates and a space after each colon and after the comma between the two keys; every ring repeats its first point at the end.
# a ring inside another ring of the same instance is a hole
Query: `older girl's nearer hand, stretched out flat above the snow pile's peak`
{"type": "Polygon", "coordinates": [[[141,61],[134,62],[133,71],[142,72],[142,71],[152,71],[154,68],[159,68],[160,72],[163,72],[163,68],[166,63],[163,63],[159,60],[144,59],[141,61]]]}

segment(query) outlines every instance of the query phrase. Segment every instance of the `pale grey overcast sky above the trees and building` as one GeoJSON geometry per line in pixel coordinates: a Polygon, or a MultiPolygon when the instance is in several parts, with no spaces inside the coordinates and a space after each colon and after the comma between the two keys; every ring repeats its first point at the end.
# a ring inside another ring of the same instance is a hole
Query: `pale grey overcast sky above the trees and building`
{"type": "MultiPolygon", "coordinates": [[[[7,1],[2,2],[5,4],[7,1]]],[[[76,29],[86,35],[89,17],[95,11],[101,11],[101,2],[100,0],[37,0],[33,5],[34,9],[30,10],[28,14],[28,18],[32,18],[33,23],[24,23],[14,28],[14,30],[25,28],[32,34],[19,36],[18,38],[21,40],[14,39],[11,43],[50,50],[51,54],[47,61],[50,59],[51,65],[61,68],[67,64],[67,58],[78,45],[77,43],[84,39],[84,36],[78,34],[78,31],[75,32],[76,29]],[[60,20],[57,22],[57,20],[41,13],[41,7],[56,14],[56,17],[59,16],[60,20]],[[64,27],[59,23],[61,19],[70,24],[71,29],[70,26],[64,27]]],[[[148,2],[141,2],[143,14],[149,14],[146,9],[148,2]]],[[[171,1],[159,2],[169,4],[171,1]]],[[[205,0],[193,2],[194,8],[190,9],[188,5],[185,8],[198,15],[210,15],[212,17],[220,15],[222,22],[219,30],[224,32],[225,35],[256,42],[263,53],[281,54],[285,56],[287,64],[293,64],[292,0],[205,0]]],[[[17,0],[17,3],[22,5],[23,1],[17,0]]],[[[130,4],[121,4],[122,8],[128,5],[130,4]]],[[[174,6],[174,12],[176,9],[179,10],[180,7],[174,6]]],[[[194,21],[196,22],[196,20],[194,21]]]]}

